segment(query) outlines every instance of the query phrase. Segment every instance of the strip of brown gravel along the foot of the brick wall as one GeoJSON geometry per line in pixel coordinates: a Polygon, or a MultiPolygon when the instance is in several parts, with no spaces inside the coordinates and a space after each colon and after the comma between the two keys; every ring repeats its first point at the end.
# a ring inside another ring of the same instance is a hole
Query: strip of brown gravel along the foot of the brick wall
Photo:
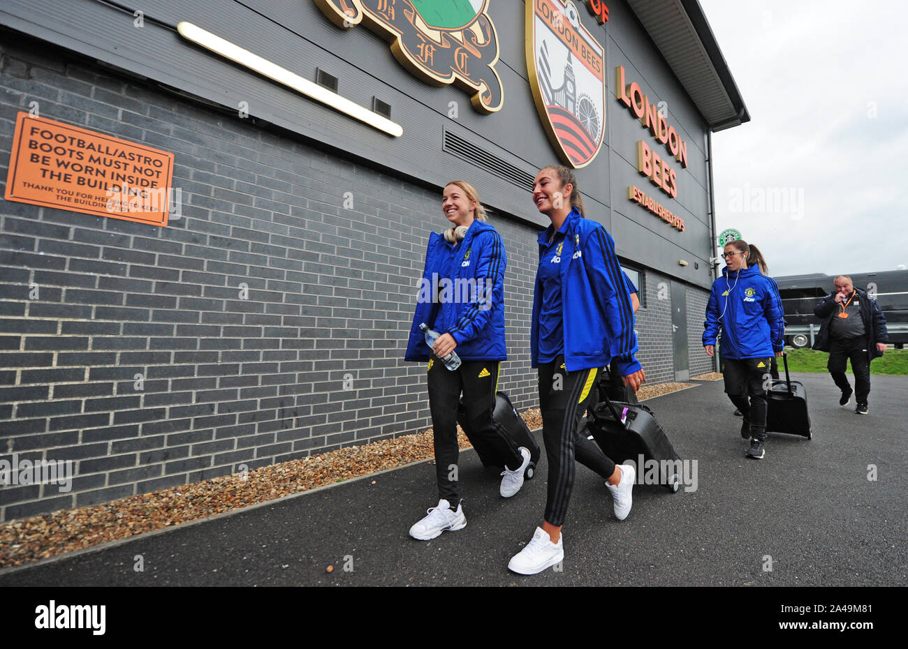
{"type": "MultiPolygon", "coordinates": [[[[706,375],[704,375],[706,376],[706,375]]],[[[721,376],[721,375],[720,375],[721,376]]],[[[644,386],[637,398],[658,397],[693,383],[660,383],[644,386]]],[[[523,419],[530,430],[542,427],[538,408],[526,410],[523,419]]],[[[461,448],[469,440],[458,428],[461,448]]],[[[114,500],[104,505],[61,509],[0,525],[0,568],[24,565],[97,546],[129,536],[180,525],[247,505],[324,487],[351,477],[402,467],[434,457],[432,430],[362,446],[303,457],[261,467],[247,475],[214,477],[114,500]]]]}

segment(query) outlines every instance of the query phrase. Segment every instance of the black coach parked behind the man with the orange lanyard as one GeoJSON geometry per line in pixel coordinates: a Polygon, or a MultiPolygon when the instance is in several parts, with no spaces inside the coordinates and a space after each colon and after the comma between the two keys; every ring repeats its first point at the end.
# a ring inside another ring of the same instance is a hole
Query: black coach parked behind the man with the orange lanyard
{"type": "MultiPolygon", "coordinates": [[[[848,276],[855,287],[866,290],[880,305],[886,317],[889,341],[896,349],[903,349],[908,341],[908,270],[857,272],[848,276]]],[[[812,346],[821,324],[814,316],[814,306],[832,292],[835,275],[814,272],[774,279],[785,308],[785,343],[795,349],[812,346]]]]}

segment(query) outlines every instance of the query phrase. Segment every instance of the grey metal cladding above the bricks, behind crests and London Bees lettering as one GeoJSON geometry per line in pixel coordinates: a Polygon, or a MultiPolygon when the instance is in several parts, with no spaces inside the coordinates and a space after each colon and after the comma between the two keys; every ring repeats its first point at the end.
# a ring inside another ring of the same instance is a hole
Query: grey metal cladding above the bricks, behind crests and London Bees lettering
{"type": "MultiPolygon", "coordinates": [[[[500,58],[496,70],[505,93],[504,108],[490,115],[476,113],[469,95],[456,87],[424,84],[395,61],[388,44],[378,35],[361,25],[342,30],[331,24],[311,0],[143,0],[141,28],[133,25],[133,14],[93,0],[6,0],[0,8],[0,23],[228,109],[238,109],[241,102],[247,102],[253,117],[419,182],[440,186],[452,178],[468,177],[491,207],[544,227],[548,219],[538,214],[528,192],[481,165],[469,164],[443,150],[447,128],[530,175],[540,166],[557,161],[527,81],[524,6],[490,3],[489,13],[498,30],[500,58]],[[391,138],[185,42],[174,31],[182,20],[303,77],[314,79],[315,69],[324,69],[339,78],[341,95],[351,101],[368,107],[374,96],[389,103],[404,135],[391,138]],[[449,118],[452,102],[458,107],[456,119],[449,118]]],[[[710,256],[709,241],[700,237],[694,224],[691,231],[678,232],[627,200],[627,186],[637,184],[686,221],[708,223],[706,120],[627,4],[616,0],[609,9],[611,19],[606,27],[597,25],[585,9],[580,12],[587,28],[607,47],[605,143],[596,160],[577,171],[588,215],[616,235],[630,230],[643,236],[644,241],[621,241],[616,236],[619,248],[633,259],[708,286],[708,275],[695,273],[693,266],[679,270],[675,262],[682,251],[704,260],[710,256]],[[617,64],[628,65],[628,74],[633,65],[634,80],[651,99],[666,101],[670,122],[688,143],[688,167],[682,169],[673,161],[678,171],[677,201],[637,172],[637,140],[654,147],[657,144],[615,99],[617,64]],[[617,156],[608,153],[609,145],[617,156]],[[619,223],[624,220],[646,225],[640,231],[619,223]],[[656,254],[656,250],[671,253],[656,254]]],[[[167,148],[164,142],[161,146],[167,148]]]]}

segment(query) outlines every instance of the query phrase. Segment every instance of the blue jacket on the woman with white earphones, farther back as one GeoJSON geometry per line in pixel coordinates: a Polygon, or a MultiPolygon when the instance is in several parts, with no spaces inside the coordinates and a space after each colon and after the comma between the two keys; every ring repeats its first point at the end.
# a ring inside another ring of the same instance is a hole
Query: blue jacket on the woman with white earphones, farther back
{"type": "Polygon", "coordinates": [[[785,315],[775,280],[757,266],[713,282],[706,304],[703,345],[715,345],[722,327],[722,358],[765,359],[785,347],[785,315]]]}

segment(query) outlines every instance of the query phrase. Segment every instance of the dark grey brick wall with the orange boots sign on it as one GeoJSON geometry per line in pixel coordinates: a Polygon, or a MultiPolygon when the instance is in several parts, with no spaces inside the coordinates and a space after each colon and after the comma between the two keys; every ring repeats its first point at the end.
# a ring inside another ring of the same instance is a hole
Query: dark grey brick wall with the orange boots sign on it
{"type": "MultiPolygon", "coordinates": [[[[428,428],[425,368],[402,357],[438,190],[71,60],[2,45],[0,182],[37,102],[173,152],[182,216],[0,201],[0,460],[75,462],[68,493],[0,489],[0,521],[428,428]]],[[[490,222],[508,251],[501,388],[529,408],[536,231],[490,222]]],[[[668,304],[649,295],[639,319],[651,382],[672,378],[668,304]]]]}

